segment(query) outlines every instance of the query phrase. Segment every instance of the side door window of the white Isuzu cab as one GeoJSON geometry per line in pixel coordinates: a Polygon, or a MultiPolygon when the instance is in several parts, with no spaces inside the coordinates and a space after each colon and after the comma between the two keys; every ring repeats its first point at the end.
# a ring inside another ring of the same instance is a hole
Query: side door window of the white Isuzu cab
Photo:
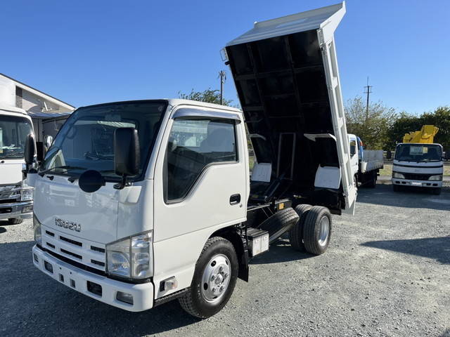
{"type": "Polygon", "coordinates": [[[175,119],[165,155],[165,201],[184,199],[206,166],[236,161],[235,121],[175,119]]]}

